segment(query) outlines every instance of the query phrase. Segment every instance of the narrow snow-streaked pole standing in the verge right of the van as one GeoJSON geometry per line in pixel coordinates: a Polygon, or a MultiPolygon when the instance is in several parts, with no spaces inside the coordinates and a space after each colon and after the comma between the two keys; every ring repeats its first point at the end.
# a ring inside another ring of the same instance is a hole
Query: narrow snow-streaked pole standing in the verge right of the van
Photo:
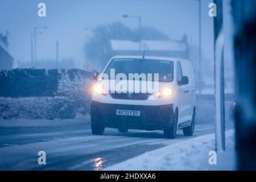
{"type": "Polygon", "coordinates": [[[217,16],[214,17],[214,93],[216,109],[216,151],[225,151],[225,83],[224,83],[224,27],[222,0],[214,0],[217,16]]]}

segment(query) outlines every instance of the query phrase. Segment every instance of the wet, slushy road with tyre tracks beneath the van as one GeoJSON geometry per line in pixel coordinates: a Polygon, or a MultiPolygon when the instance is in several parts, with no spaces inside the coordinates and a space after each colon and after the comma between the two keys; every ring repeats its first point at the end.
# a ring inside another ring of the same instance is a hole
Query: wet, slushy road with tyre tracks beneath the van
{"type": "MultiPolygon", "coordinates": [[[[206,107],[206,106],[204,106],[206,107]]],[[[209,115],[209,112],[208,112],[209,115]]],[[[163,131],[106,129],[94,136],[90,123],[69,126],[0,128],[0,170],[100,170],[144,152],[177,144],[214,132],[213,119],[199,117],[193,137],[177,131],[176,139],[165,139],[163,131]],[[38,164],[38,152],[46,152],[46,165],[38,164]]],[[[226,128],[233,128],[232,122],[226,128]]]]}

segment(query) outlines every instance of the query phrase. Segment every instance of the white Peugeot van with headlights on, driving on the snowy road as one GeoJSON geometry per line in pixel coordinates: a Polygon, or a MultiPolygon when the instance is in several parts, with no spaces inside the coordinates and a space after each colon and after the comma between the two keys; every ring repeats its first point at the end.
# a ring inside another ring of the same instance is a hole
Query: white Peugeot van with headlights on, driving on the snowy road
{"type": "Polygon", "coordinates": [[[177,129],[183,129],[184,135],[193,135],[196,86],[189,61],[170,57],[114,56],[103,74],[94,74],[94,80],[97,81],[90,106],[94,135],[104,134],[105,127],[122,133],[128,129],[163,130],[166,138],[175,138],[177,129]],[[114,78],[111,75],[113,71],[114,78]],[[143,75],[148,73],[154,77],[143,80],[143,75]],[[137,78],[131,79],[130,75],[137,78]],[[133,92],[130,88],[127,92],[118,90],[118,83],[127,81],[124,76],[133,81],[128,87],[138,83],[139,91],[138,88],[133,88],[133,92]],[[102,84],[106,81],[112,82],[115,90],[113,86],[109,88],[102,84]],[[154,89],[141,92],[144,82],[153,84],[154,89]]]}

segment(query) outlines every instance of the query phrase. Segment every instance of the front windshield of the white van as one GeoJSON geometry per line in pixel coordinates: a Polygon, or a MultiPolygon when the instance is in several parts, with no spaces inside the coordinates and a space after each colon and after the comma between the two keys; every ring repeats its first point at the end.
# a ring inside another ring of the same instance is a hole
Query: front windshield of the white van
{"type": "MultiPolygon", "coordinates": [[[[152,74],[152,81],[154,81],[154,74],[159,74],[159,82],[171,82],[174,80],[174,62],[153,59],[113,59],[105,73],[110,78],[110,69],[114,69],[115,76],[118,73],[123,73],[129,79],[129,73],[152,74]]],[[[112,79],[112,78],[111,78],[112,79]]],[[[133,78],[134,79],[134,78],[133,78]]],[[[147,77],[148,79],[148,77],[147,77]]]]}

